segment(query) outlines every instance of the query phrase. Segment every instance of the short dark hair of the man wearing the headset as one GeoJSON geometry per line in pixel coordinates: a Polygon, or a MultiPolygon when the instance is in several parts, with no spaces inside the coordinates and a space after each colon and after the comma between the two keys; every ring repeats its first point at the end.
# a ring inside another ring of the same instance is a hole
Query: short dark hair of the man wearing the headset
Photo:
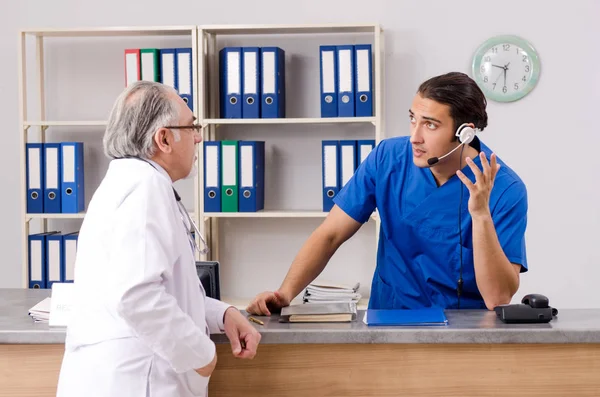
{"type": "Polygon", "coordinates": [[[487,127],[487,100],[475,81],[464,73],[450,72],[432,77],[419,86],[422,97],[450,106],[454,130],[463,123],[487,127]]]}

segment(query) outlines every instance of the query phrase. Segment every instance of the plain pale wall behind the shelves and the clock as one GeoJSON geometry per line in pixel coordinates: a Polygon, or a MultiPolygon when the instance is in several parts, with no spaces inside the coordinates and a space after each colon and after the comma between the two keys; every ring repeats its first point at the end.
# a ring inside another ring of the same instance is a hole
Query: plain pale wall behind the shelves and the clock
{"type": "MultiPolygon", "coordinates": [[[[9,4],[5,0],[3,3],[9,4]]],[[[527,247],[530,271],[522,276],[515,300],[529,292],[548,295],[559,307],[600,307],[597,280],[600,276],[600,251],[596,249],[600,230],[600,190],[597,187],[595,152],[600,143],[596,116],[600,105],[600,62],[597,37],[600,3],[593,0],[569,3],[543,1],[313,1],[256,2],[173,1],[80,2],[19,1],[3,7],[0,24],[0,109],[4,124],[3,155],[0,173],[0,241],[2,261],[0,287],[21,285],[20,181],[18,164],[17,31],[38,27],[79,27],[119,25],[182,25],[216,23],[328,23],[378,22],[385,29],[386,45],[386,131],[387,136],[406,135],[406,111],[418,84],[424,79],[451,70],[469,73],[471,57],[477,46],[490,36],[517,34],[530,40],[542,62],[538,87],[525,99],[511,104],[490,102],[489,127],[482,139],[492,147],[528,187],[529,226],[527,247]],[[296,4],[302,3],[300,9],[296,4]],[[294,5],[285,5],[294,4],[294,5]],[[563,4],[559,6],[559,4],[563,4]],[[568,4],[565,5],[565,4],[568,4]],[[541,7],[544,10],[541,11],[541,7]],[[553,186],[556,184],[556,186],[553,186]]],[[[129,40],[128,45],[150,42],[129,40]]],[[[297,45],[300,64],[314,68],[308,44],[297,45]]],[[[318,43],[315,42],[315,43],[318,43]]],[[[109,106],[122,87],[120,52],[122,42],[94,44],[83,41],[71,50],[66,43],[55,43],[47,50],[49,95],[48,118],[105,119],[109,106]],[[51,51],[52,50],[52,51],[51,51]],[[115,55],[116,54],[116,55],[115,55]],[[94,71],[94,82],[79,80],[77,68],[94,71]],[[51,82],[53,80],[54,82],[51,82]]],[[[180,44],[164,40],[155,46],[180,44]]],[[[181,43],[185,44],[185,43],[181,43]]],[[[283,46],[283,45],[282,45],[283,46]]],[[[294,64],[298,65],[298,64],[294,64]]],[[[297,69],[300,73],[300,70],[297,69]]],[[[315,69],[316,70],[316,69],[315,69]]],[[[305,73],[305,72],[301,72],[305,73]]],[[[315,80],[313,83],[316,82],[315,80]]],[[[312,84],[312,83],[311,83],[312,84]]],[[[305,89],[310,96],[315,85],[305,89]]],[[[304,88],[303,88],[304,90],[304,88]]],[[[304,103],[304,105],[303,105],[304,103]]],[[[297,101],[292,112],[310,113],[297,101]]],[[[283,164],[293,177],[272,180],[289,183],[282,193],[276,186],[267,206],[295,205],[318,208],[320,174],[318,148],[302,163],[302,145],[316,145],[321,136],[366,136],[368,129],[342,127],[285,127],[280,130],[240,127],[225,130],[224,136],[261,137],[271,142],[268,161],[283,164]],[[284,141],[281,135],[288,135],[284,141]],[[312,143],[301,139],[315,135],[312,143]],[[290,142],[297,144],[290,145],[290,142]],[[290,160],[287,160],[290,159],[290,160]],[[300,170],[306,171],[303,177],[300,170]],[[302,189],[302,187],[306,187],[302,189]],[[291,201],[295,200],[295,201],[291,201]],[[287,204],[286,204],[287,203],[287,204]],[[291,203],[291,204],[290,204],[291,203]]],[[[100,139],[102,128],[49,130],[51,139],[85,137],[87,142],[87,201],[106,167],[100,139]],[[81,135],[79,132],[89,132],[81,135]],[[77,133],[77,134],[76,134],[77,133]],[[89,161],[89,163],[88,163],[89,161]]],[[[287,175],[287,174],[286,174],[287,175]]],[[[182,190],[190,197],[191,186],[182,190]]],[[[184,197],[184,200],[185,197],[184,197]]],[[[57,224],[77,228],[80,221],[57,224]]],[[[263,288],[276,288],[296,251],[318,220],[299,219],[278,223],[275,220],[221,221],[221,237],[231,248],[224,254],[223,277],[229,283],[224,293],[252,296],[263,288]],[[285,233],[285,234],[284,234],[285,233]]],[[[52,225],[54,226],[54,225],[52,225]]],[[[327,275],[344,280],[359,279],[368,293],[373,272],[374,228],[367,224],[334,257],[327,275]]]]}

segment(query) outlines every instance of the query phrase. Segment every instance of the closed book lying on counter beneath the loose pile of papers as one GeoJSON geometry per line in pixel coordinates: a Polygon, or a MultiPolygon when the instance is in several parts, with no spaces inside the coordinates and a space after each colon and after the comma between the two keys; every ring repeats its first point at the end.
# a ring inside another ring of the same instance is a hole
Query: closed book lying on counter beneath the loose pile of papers
{"type": "Polygon", "coordinates": [[[342,323],[356,320],[356,303],[312,303],[283,307],[282,323],[342,323]]]}

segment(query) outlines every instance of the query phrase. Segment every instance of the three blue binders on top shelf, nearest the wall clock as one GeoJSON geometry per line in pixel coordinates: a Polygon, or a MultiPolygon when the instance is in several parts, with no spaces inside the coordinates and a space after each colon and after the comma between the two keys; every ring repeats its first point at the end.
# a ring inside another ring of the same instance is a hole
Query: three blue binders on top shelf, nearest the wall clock
{"type": "Polygon", "coordinates": [[[321,117],[373,116],[371,45],[323,45],[319,50],[321,117]]]}

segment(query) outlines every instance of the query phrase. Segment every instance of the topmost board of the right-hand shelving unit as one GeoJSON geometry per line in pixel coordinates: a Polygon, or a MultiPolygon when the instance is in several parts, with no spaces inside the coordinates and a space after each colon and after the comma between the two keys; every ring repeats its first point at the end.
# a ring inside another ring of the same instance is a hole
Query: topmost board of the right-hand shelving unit
{"type": "Polygon", "coordinates": [[[207,25],[200,30],[211,34],[323,34],[323,33],[377,33],[378,24],[310,24],[310,25],[207,25]]]}

